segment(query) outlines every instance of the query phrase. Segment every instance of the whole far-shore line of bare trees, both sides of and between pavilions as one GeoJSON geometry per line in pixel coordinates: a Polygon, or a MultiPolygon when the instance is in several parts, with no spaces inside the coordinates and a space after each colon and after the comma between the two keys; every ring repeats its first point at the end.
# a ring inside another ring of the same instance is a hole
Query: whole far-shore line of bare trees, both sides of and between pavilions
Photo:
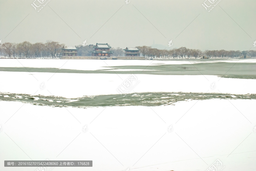
{"type": "MultiPolygon", "coordinates": [[[[78,45],[78,56],[91,56],[91,51],[94,51],[95,45],[82,46],[78,45]]],[[[66,48],[64,44],[56,41],[47,41],[46,43],[30,43],[24,41],[22,43],[3,43],[0,46],[0,55],[3,54],[9,58],[11,57],[36,57],[36,58],[56,58],[62,55],[62,48],[66,48]]],[[[186,47],[174,49],[156,49],[150,46],[137,46],[140,49],[140,56],[146,58],[198,58],[200,56],[207,56],[209,58],[237,58],[241,56],[241,51],[226,51],[226,50],[206,50],[188,49],[186,47]]],[[[124,56],[124,50],[120,47],[110,48],[113,51],[112,56],[124,56]]],[[[256,57],[256,51],[247,51],[250,57],[256,57]]]]}

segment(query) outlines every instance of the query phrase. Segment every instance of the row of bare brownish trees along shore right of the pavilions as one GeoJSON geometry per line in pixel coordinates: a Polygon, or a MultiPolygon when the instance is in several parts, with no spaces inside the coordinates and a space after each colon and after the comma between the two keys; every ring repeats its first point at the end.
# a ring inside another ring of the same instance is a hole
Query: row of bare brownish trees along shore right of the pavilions
{"type": "MultiPolygon", "coordinates": [[[[137,48],[141,50],[141,55],[146,58],[198,58],[203,55],[209,58],[236,58],[241,56],[241,51],[206,50],[202,52],[199,49],[188,49],[186,47],[170,50],[161,50],[150,46],[138,46],[137,48]]],[[[256,51],[247,51],[247,55],[256,57],[256,51]]]]}

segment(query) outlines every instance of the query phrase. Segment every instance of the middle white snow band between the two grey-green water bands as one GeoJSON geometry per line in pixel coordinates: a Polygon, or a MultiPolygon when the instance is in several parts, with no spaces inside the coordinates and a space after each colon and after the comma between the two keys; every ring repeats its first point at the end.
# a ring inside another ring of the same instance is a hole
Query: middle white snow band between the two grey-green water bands
{"type": "MultiPolygon", "coordinates": [[[[44,72],[0,72],[0,92],[54,95],[66,98],[119,94],[118,87],[131,74],[77,74],[44,72]],[[41,84],[44,88],[40,88],[41,84]]],[[[219,78],[202,75],[135,74],[139,92],[256,93],[255,79],[219,78]],[[207,79],[206,79],[207,78],[207,79]],[[214,86],[211,85],[214,83],[214,86]],[[246,88],[241,88],[246,85],[246,88]]]]}

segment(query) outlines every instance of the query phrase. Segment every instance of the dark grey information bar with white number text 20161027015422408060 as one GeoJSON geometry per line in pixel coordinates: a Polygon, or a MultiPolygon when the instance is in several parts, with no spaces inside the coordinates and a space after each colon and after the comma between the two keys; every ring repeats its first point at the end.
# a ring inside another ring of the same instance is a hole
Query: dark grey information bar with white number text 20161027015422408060
{"type": "Polygon", "coordinates": [[[92,160],[5,160],[5,167],[92,167],[92,160]]]}

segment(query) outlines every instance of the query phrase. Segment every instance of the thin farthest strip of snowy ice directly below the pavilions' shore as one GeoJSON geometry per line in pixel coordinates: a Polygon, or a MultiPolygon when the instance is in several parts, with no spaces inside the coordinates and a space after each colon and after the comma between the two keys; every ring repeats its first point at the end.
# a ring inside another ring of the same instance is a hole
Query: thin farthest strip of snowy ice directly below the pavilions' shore
{"type": "Polygon", "coordinates": [[[256,63],[256,59],[175,59],[175,60],[93,60],[93,59],[1,59],[0,67],[62,68],[99,70],[107,66],[148,66],[157,64],[196,64],[216,62],[256,63]],[[68,62],[67,62],[68,61],[68,62]],[[63,65],[64,64],[64,65],[63,65]]]}

